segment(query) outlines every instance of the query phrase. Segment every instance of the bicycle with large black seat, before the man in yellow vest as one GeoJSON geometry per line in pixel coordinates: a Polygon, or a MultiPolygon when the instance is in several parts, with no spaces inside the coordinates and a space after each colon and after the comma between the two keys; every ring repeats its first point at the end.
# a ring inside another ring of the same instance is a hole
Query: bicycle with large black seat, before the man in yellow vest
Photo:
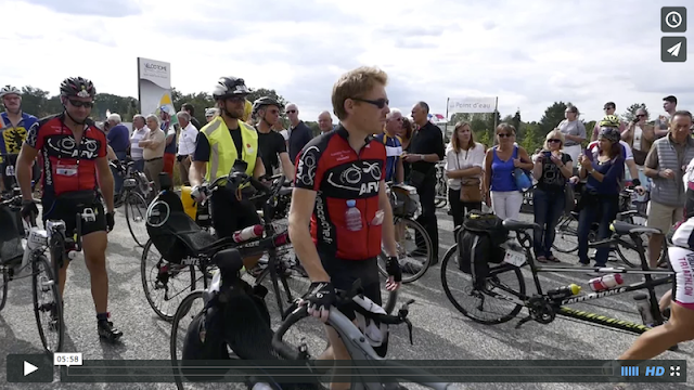
{"type": "MultiPolygon", "coordinates": [[[[256,237],[245,240],[239,238],[239,242],[233,237],[233,235],[232,237],[218,239],[209,232],[200,227],[183,211],[183,206],[178,195],[166,190],[163,185],[162,192],[147,209],[147,230],[150,231],[151,237],[144,246],[140,265],[145,298],[159,317],[165,321],[172,321],[175,311],[174,313],[167,312],[165,311],[166,309],[159,307],[153,298],[154,290],[164,290],[163,300],[165,302],[171,301],[181,294],[184,294],[184,291],[194,291],[197,283],[195,277],[196,269],[203,274],[203,288],[207,288],[207,280],[210,275],[208,269],[211,265],[211,258],[215,253],[228,248],[239,249],[244,258],[268,253],[267,264],[262,264],[262,261],[258,262],[260,268],[262,268],[262,265],[266,266],[256,275],[252,275],[250,277],[253,280],[252,282],[260,284],[268,275],[270,276],[272,291],[275,295],[278,309],[282,315],[284,314],[283,303],[288,303],[294,299],[292,290],[296,291],[303,290],[305,287],[308,288],[309,283],[307,280],[292,277],[294,275],[292,260],[280,258],[288,252],[288,247],[291,246],[288,231],[284,229],[278,232],[271,220],[271,216],[274,214],[273,210],[277,207],[278,195],[283,188],[284,180],[284,177],[281,176],[280,179],[274,181],[272,186],[267,186],[253,177],[235,170],[228,177],[218,178],[211,184],[203,187],[203,191],[207,194],[211,194],[211,192],[224,185],[223,182],[226,181],[235,183],[234,187],[240,187],[249,183],[258,192],[249,200],[252,203],[265,200],[262,216],[269,217],[261,218],[262,225],[250,226],[250,229],[255,230],[256,237]],[[154,216],[157,212],[164,212],[166,213],[166,217],[158,218],[154,216]],[[158,220],[153,220],[153,217],[156,217],[158,220]],[[155,245],[152,237],[152,227],[156,229],[162,226],[165,229],[162,236],[170,237],[172,240],[160,242],[159,245],[155,245]],[[153,277],[153,282],[150,282],[147,278],[147,253],[152,251],[153,248],[160,250],[159,247],[167,247],[169,253],[165,253],[165,256],[160,256],[159,259],[156,260],[156,264],[152,266],[155,275],[153,277]],[[171,253],[174,251],[177,253],[171,253]],[[184,277],[184,271],[187,268],[190,270],[190,283],[183,282],[184,287],[180,291],[169,294],[170,284],[181,277],[184,277]],[[300,284],[301,287],[291,288],[290,281],[300,284]],[[280,282],[282,283],[283,290],[280,289],[280,282]],[[153,285],[153,288],[150,284],[153,285]],[[282,298],[282,292],[286,296],[284,300],[282,298]]],[[[178,307],[178,304],[174,304],[178,307]]]]}

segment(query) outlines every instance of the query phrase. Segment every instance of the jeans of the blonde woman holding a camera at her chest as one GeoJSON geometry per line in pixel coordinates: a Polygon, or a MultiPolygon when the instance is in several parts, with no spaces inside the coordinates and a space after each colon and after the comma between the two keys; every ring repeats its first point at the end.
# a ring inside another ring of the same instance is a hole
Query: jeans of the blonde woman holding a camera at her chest
{"type": "Polygon", "coordinates": [[[560,217],[564,213],[564,191],[545,192],[535,188],[532,193],[532,207],[535,209],[535,223],[539,224],[541,230],[536,229],[534,234],[532,246],[535,256],[540,257],[552,256],[552,244],[554,244],[554,229],[560,221],[560,217]]]}

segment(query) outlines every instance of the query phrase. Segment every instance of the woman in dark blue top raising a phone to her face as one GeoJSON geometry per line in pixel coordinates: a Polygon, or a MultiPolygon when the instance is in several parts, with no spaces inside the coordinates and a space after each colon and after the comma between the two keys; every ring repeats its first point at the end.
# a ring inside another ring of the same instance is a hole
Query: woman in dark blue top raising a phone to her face
{"type": "MultiPolygon", "coordinates": [[[[578,219],[578,258],[583,266],[590,265],[588,258],[588,235],[593,222],[600,216],[599,239],[609,236],[609,224],[619,209],[620,183],[625,176],[625,157],[619,144],[621,135],[614,128],[602,128],[597,136],[600,146],[595,153],[581,155],[579,177],[588,178],[581,195],[578,219]]],[[[600,247],[595,252],[595,266],[605,266],[608,247],[600,247]]]]}

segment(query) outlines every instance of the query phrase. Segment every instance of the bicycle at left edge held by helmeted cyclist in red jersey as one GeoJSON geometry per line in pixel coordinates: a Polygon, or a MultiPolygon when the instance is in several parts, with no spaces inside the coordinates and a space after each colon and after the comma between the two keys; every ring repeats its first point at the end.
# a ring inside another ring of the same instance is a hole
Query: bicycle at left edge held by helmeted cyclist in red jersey
{"type": "MultiPolygon", "coordinates": [[[[37,202],[37,200],[34,200],[37,202]]],[[[81,207],[83,205],[79,205],[81,207]]],[[[22,208],[22,195],[15,195],[8,200],[0,203],[0,209],[8,207],[13,212],[22,208]]],[[[85,213],[87,218],[93,218],[91,213],[85,213]]],[[[34,313],[39,328],[39,337],[43,349],[48,354],[60,352],[63,348],[65,337],[65,323],[63,320],[63,303],[59,291],[59,270],[63,268],[65,256],[74,259],[76,252],[81,251],[81,220],[82,213],[77,213],[77,229],[73,237],[67,237],[64,221],[48,220],[46,229],[39,229],[36,224],[36,216],[29,218],[28,224],[24,221],[26,243],[22,244],[24,250],[22,257],[3,261],[0,264],[2,273],[2,298],[0,298],[0,310],[4,307],[8,296],[8,284],[25,277],[31,277],[31,288],[34,296],[34,313]],[[53,261],[49,261],[44,252],[49,251],[53,261]],[[30,268],[30,274],[27,274],[30,268]],[[47,292],[52,301],[48,303],[39,302],[39,292],[47,292]],[[41,314],[48,313],[48,332],[41,326],[41,314]],[[49,346],[48,335],[56,335],[55,347],[49,346]]],[[[12,221],[14,223],[14,221],[12,221]]],[[[10,227],[10,226],[5,226],[10,227]]]]}

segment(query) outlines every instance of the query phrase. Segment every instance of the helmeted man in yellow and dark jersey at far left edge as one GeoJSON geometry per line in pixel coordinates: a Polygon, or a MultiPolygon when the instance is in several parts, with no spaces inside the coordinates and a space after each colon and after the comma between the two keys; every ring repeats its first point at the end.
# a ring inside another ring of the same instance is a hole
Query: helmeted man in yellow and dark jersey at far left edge
{"type": "MultiPolygon", "coordinates": [[[[27,129],[38,121],[34,115],[22,112],[22,92],[11,86],[0,89],[0,99],[4,113],[0,114],[0,193],[11,191],[14,185],[14,164],[22,144],[26,139],[27,129]],[[13,156],[5,156],[13,155],[13,156]]],[[[34,181],[38,180],[40,168],[34,164],[34,181]]]]}

